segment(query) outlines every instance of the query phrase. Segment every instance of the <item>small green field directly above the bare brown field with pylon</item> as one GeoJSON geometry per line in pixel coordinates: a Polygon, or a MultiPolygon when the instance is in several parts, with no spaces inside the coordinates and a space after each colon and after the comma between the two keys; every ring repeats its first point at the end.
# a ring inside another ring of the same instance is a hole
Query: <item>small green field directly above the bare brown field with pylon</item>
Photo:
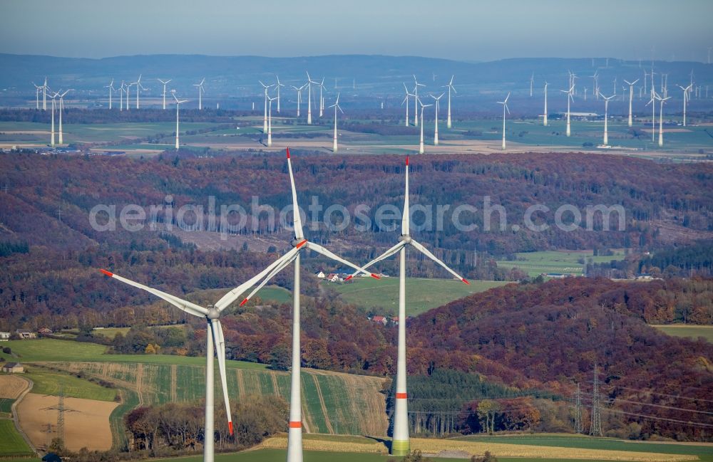
{"type": "Polygon", "coordinates": [[[101,385],[88,380],[43,369],[39,366],[28,367],[24,377],[34,382],[32,392],[36,394],[58,396],[60,384],[66,397],[113,401],[117,394],[116,389],[101,387],[101,385]]]}

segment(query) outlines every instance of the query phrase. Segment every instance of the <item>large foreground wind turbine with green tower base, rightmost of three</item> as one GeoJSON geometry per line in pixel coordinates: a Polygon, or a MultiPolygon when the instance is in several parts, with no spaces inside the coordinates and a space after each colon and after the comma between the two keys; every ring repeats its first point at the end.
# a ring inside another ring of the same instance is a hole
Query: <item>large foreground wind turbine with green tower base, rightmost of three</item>
{"type": "MultiPolygon", "coordinates": [[[[409,157],[406,157],[406,187],[404,192],[404,211],[401,216],[401,236],[399,243],[389,248],[374,260],[366,263],[364,268],[369,268],[379,261],[389,258],[399,253],[399,347],[398,359],[396,359],[396,401],[394,405],[394,431],[391,440],[391,454],[394,456],[405,456],[409,453],[409,404],[408,394],[406,394],[406,246],[411,246],[423,253],[426,257],[446,268],[455,278],[463,283],[470,284],[458,273],[446,266],[446,263],[438,260],[433,253],[411,238],[410,233],[411,214],[409,209],[409,157]]],[[[354,277],[356,273],[347,279],[354,277]]]]}

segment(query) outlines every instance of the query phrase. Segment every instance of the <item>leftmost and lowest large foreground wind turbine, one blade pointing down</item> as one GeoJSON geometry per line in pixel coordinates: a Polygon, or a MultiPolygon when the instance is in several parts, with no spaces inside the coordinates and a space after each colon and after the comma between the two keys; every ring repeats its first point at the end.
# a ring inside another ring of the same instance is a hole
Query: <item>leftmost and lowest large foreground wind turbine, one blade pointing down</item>
{"type": "Polygon", "coordinates": [[[255,275],[255,277],[248,280],[246,283],[230,290],[230,292],[223,295],[223,297],[220,298],[215,305],[208,305],[207,308],[191,303],[188,300],[175,297],[169,293],[162,292],[161,290],[136,283],[133,280],[122,278],[121,276],[111,273],[110,271],[100,270],[101,273],[110,278],[120,280],[128,285],[133,285],[135,288],[145,290],[148,293],[156,295],[158,298],[163,298],[163,300],[167,301],[171,305],[174,305],[179,310],[182,310],[190,315],[202,317],[205,320],[205,431],[203,443],[203,462],[213,462],[215,458],[215,416],[213,409],[213,387],[215,387],[215,379],[213,378],[213,362],[215,360],[215,356],[217,356],[218,359],[218,371],[220,373],[223,400],[225,401],[228,429],[230,430],[230,434],[233,432],[230,401],[228,400],[227,392],[227,380],[225,377],[225,337],[223,337],[222,325],[220,325],[220,315],[222,314],[222,311],[237,300],[240,295],[245,293],[245,291],[251,288],[252,285],[255,285],[255,283],[257,283],[260,279],[265,277],[265,275],[275,267],[276,263],[277,262],[272,263],[272,265],[268,266],[262,271],[262,273],[255,275]]]}

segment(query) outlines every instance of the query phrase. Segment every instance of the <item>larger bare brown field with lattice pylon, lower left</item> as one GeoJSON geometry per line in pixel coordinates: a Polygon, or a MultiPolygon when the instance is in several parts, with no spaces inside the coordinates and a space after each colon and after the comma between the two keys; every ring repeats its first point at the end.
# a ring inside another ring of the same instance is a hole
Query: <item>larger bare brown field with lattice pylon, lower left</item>
{"type": "MultiPolygon", "coordinates": [[[[34,446],[46,447],[48,440],[51,440],[47,426],[57,423],[57,411],[46,408],[57,404],[57,397],[34,393],[28,393],[18,404],[20,426],[34,446]]],[[[78,451],[86,446],[90,451],[107,451],[111,448],[109,414],[118,406],[117,403],[65,398],[64,406],[75,411],[64,414],[64,437],[68,449],[78,451]]]]}

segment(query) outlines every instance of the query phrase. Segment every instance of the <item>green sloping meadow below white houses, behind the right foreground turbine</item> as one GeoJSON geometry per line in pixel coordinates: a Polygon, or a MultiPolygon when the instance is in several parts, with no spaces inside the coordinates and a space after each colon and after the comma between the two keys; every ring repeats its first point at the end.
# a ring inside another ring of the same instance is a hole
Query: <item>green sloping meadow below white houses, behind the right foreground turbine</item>
{"type": "MultiPolygon", "coordinates": [[[[399,278],[354,278],[349,283],[329,283],[325,288],[337,290],[342,300],[365,308],[378,308],[384,313],[399,310],[399,278]]],[[[499,287],[505,282],[471,280],[470,285],[454,279],[406,278],[406,313],[418,315],[473,293],[499,287]]]]}

